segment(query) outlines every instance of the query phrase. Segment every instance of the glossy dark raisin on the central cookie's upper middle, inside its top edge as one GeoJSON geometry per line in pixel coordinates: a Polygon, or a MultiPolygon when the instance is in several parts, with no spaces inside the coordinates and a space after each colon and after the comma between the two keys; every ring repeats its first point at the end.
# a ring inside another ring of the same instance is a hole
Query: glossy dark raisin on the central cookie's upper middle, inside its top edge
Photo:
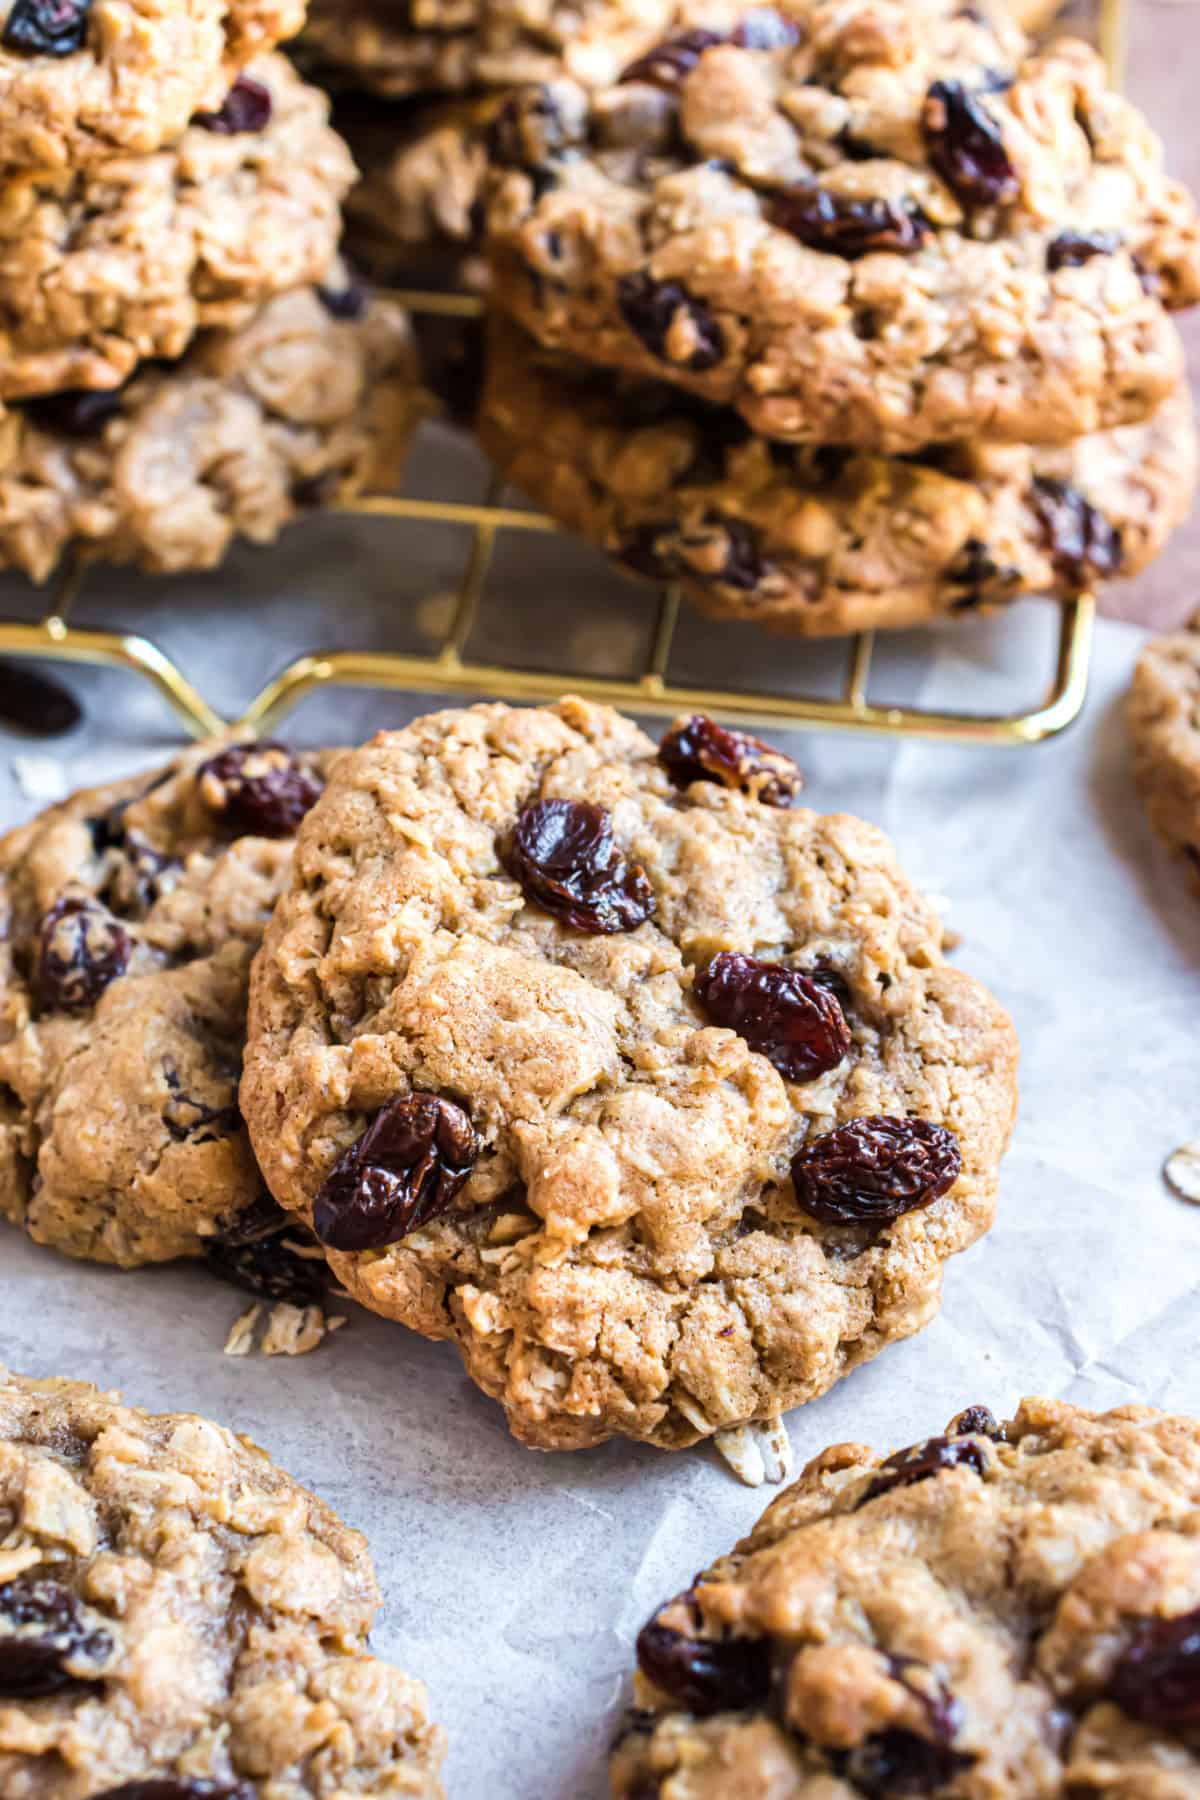
{"type": "Polygon", "coordinates": [[[590,801],[533,801],[516,819],[507,860],[525,898],[576,931],[633,931],[655,911],[646,871],[622,857],[612,817],[590,801]]]}

